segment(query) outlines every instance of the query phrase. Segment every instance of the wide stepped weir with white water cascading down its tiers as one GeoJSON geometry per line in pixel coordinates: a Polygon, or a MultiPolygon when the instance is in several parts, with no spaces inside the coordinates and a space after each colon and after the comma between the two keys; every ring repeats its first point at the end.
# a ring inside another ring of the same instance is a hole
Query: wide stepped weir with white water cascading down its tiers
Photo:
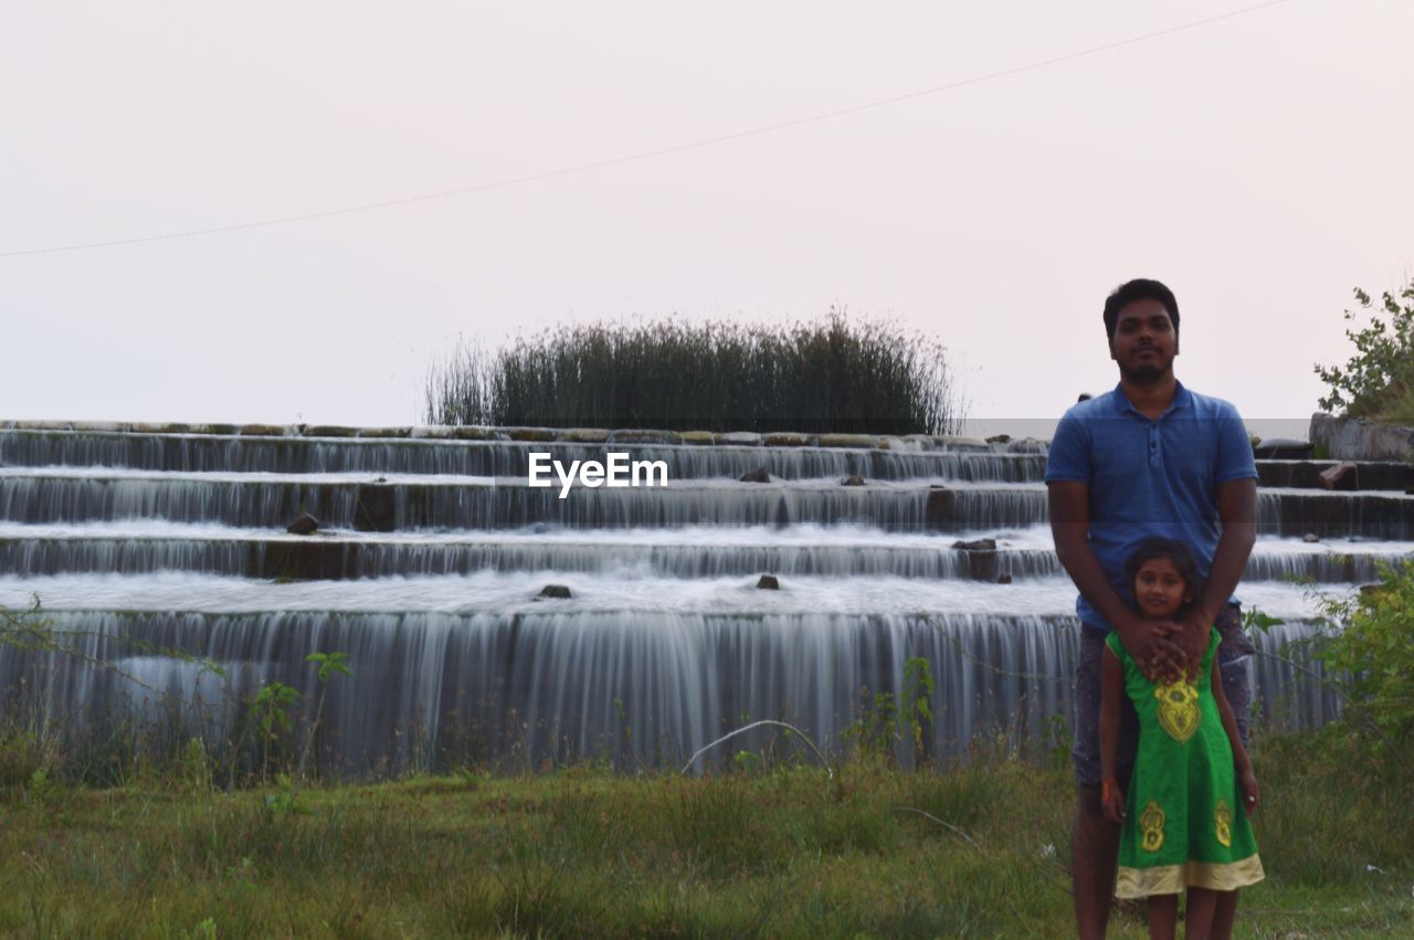
{"type": "MultiPolygon", "coordinates": [[[[0,605],[37,597],[71,650],[0,645],[0,695],[30,721],[137,715],[219,746],[271,681],[303,693],[310,727],[305,657],[342,652],[327,770],[672,768],[762,718],[837,749],[923,659],[926,753],[1036,744],[1068,724],[1079,630],[1045,459],[1038,441],[921,435],[6,423],[0,605]],[[611,451],[662,461],[669,483],[527,485],[530,452],[611,451]],[[741,481],[758,469],[768,482],[741,481]],[[301,513],[318,530],[288,534],[301,513]],[[550,584],[570,597],[542,598],[550,584]]],[[[1414,553],[1411,468],[1370,465],[1389,489],[1331,493],[1322,466],[1258,461],[1239,597],[1282,621],[1256,638],[1270,725],[1338,711],[1274,656],[1315,629],[1309,584],[1349,592],[1414,553]]]]}

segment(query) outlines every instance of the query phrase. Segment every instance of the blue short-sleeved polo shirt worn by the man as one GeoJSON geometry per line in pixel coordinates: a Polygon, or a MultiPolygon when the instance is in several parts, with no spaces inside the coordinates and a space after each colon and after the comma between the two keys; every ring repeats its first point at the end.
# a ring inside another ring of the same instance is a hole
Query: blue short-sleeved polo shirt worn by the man
{"type": "MultiPolygon", "coordinates": [[[[1237,409],[1182,383],[1157,421],[1130,404],[1120,386],[1080,401],[1056,425],[1046,461],[1048,483],[1090,485],[1090,548],[1126,602],[1134,594],[1124,584],[1124,563],[1154,536],[1185,543],[1206,578],[1222,534],[1217,486],[1256,476],[1237,409]]],[[[1075,611],[1092,629],[1113,629],[1083,595],[1075,611]]]]}

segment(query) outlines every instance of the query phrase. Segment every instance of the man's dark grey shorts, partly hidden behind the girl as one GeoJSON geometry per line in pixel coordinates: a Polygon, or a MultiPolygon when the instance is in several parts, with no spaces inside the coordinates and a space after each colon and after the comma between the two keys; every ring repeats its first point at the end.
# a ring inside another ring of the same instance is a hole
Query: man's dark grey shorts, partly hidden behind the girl
{"type": "MultiPolygon", "coordinates": [[[[1249,673],[1253,649],[1251,640],[1241,629],[1241,606],[1229,604],[1213,621],[1223,638],[1217,647],[1217,669],[1223,676],[1223,691],[1237,718],[1237,732],[1247,742],[1247,725],[1251,719],[1251,686],[1249,673]]],[[[1104,633],[1080,626],[1080,660],[1075,667],[1075,748],[1070,759],[1075,762],[1075,782],[1080,786],[1100,785],[1100,657],[1104,654],[1104,633]]],[[[1116,776],[1128,780],[1134,769],[1134,749],[1138,745],[1138,718],[1128,695],[1121,705],[1120,753],[1116,776]]]]}

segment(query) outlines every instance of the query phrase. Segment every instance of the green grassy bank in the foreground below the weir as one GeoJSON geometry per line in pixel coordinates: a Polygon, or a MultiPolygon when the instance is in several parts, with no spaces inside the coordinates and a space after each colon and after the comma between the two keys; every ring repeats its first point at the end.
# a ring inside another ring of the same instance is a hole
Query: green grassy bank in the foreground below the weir
{"type": "MultiPolygon", "coordinates": [[[[1241,936],[1414,929],[1414,793],[1342,746],[1258,744],[1268,881],[1241,936]]],[[[1065,936],[1069,794],[1059,766],[986,753],[918,773],[860,759],[833,780],[31,779],[0,792],[0,936],[1065,936]]],[[[1141,912],[1111,936],[1144,936],[1141,912]]]]}

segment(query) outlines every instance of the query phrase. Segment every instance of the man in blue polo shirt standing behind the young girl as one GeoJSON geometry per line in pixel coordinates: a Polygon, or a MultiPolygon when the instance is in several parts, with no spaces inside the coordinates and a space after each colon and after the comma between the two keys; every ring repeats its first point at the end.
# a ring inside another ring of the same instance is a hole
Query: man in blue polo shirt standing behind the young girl
{"type": "MultiPolygon", "coordinates": [[[[1178,319],[1174,293],[1158,281],[1133,280],[1110,294],[1104,331],[1120,384],[1066,411],[1046,465],[1056,554],[1080,591],[1070,874],[1086,939],[1104,936],[1120,837],[1100,807],[1104,636],[1118,630],[1150,678],[1171,681],[1196,669],[1209,626],[1217,626],[1223,690],[1247,735],[1253,647],[1232,592],[1256,540],[1257,468],[1237,410],[1174,377],[1178,319]],[[1178,622],[1143,621],[1128,605],[1124,561],[1150,536],[1188,544],[1205,577],[1202,597],[1178,622]]],[[[1127,782],[1138,731],[1128,701],[1126,707],[1118,779],[1127,782]]],[[[1219,909],[1213,936],[1230,933],[1234,905],[1219,909]]]]}

